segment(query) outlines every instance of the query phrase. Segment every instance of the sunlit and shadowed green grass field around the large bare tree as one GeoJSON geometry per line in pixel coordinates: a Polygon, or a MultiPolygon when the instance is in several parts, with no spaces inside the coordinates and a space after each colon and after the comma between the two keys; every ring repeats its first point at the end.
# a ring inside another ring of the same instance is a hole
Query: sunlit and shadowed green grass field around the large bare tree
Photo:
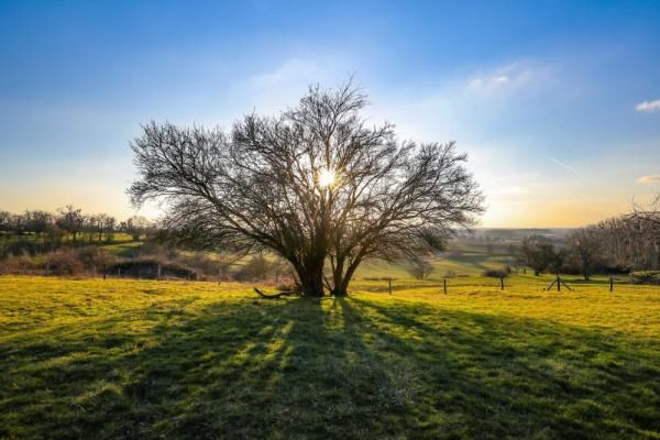
{"type": "Polygon", "coordinates": [[[660,288],[0,277],[0,438],[660,438],[660,288]]]}

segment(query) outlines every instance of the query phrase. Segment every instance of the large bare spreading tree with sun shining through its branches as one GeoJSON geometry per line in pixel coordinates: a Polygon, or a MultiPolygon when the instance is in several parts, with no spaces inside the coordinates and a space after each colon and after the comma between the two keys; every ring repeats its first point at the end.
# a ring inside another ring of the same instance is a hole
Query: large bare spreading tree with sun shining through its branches
{"type": "Polygon", "coordinates": [[[454,143],[400,142],[394,125],[366,124],[366,103],[349,82],[311,87],[298,107],[230,133],[152,122],[131,145],[129,194],[164,200],[179,243],[275,252],[312,296],[329,263],[331,292],[345,295],[364,258],[440,249],[483,210],[454,143]]]}

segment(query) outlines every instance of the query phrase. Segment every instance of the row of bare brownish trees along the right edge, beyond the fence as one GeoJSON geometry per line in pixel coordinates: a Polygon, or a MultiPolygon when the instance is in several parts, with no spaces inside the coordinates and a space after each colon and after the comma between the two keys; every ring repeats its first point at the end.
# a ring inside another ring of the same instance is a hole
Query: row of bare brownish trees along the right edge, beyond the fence
{"type": "Polygon", "coordinates": [[[527,238],[520,263],[537,275],[543,271],[580,273],[585,279],[598,272],[659,271],[660,196],[630,213],[571,231],[557,249],[543,237],[527,238]]]}

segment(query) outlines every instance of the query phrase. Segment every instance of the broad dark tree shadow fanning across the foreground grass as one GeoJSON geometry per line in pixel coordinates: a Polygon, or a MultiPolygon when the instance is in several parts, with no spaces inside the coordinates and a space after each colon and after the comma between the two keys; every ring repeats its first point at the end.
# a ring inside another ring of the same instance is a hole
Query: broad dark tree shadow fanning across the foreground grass
{"type": "Polygon", "coordinates": [[[0,345],[0,437],[652,438],[658,346],[339,298],[189,304],[0,345]]]}

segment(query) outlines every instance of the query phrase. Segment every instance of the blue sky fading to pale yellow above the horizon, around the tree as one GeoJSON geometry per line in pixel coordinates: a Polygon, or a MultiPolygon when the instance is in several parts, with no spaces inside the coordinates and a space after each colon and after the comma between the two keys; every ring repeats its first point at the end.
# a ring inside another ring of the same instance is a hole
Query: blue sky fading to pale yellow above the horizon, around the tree
{"type": "Polygon", "coordinates": [[[353,77],[402,140],[457,141],[487,228],[660,191],[659,1],[0,0],[0,209],[136,211],[151,120],[229,129],[353,77]]]}

